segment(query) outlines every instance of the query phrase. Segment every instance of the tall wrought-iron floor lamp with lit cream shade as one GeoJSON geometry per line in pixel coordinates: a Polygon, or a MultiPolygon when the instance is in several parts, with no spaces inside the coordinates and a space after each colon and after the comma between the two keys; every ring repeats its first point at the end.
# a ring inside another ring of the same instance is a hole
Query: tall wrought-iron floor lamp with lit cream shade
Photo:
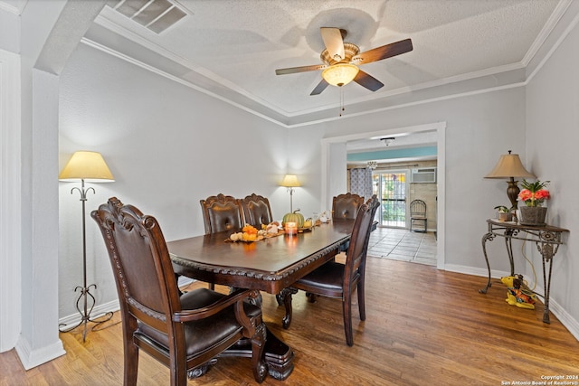
{"type": "MultiPolygon", "coordinates": [[[[80,291],[81,295],[76,300],[76,309],[81,314],[81,321],[77,325],[59,325],[59,330],[62,333],[68,333],[74,330],[79,325],[84,325],[84,330],[82,332],[82,342],[85,341],[87,335],[87,324],[89,322],[100,325],[101,323],[107,322],[112,317],[112,312],[108,312],[103,315],[95,316],[94,318],[90,316],[92,308],[95,305],[95,298],[90,294],[90,288],[97,288],[96,284],[87,285],[87,243],[86,243],[86,212],[85,212],[85,202],[87,201],[87,193],[92,191],[94,188],[85,188],[84,183],[107,183],[113,182],[114,177],[110,173],[109,167],[102,158],[102,155],[97,152],[79,151],[71,156],[69,162],[62,169],[61,174],[58,176],[60,181],[81,181],[81,187],[74,187],[71,189],[71,194],[74,191],[79,191],[81,193],[82,202],[82,287],[78,286],[74,288],[74,291],[80,291]],[[82,306],[81,306],[82,305],[82,306]],[[98,319],[98,320],[97,320],[98,319]]],[[[94,329],[94,326],[93,328],[94,329]]],[[[92,330],[91,329],[91,330],[92,330]]]]}

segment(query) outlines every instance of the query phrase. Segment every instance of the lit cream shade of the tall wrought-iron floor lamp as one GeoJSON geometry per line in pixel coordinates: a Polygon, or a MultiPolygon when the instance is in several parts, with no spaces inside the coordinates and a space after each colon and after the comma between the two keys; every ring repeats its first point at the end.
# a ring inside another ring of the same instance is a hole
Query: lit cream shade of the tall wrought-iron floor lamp
{"type": "Polygon", "coordinates": [[[115,181],[109,166],[102,155],[97,152],[78,151],[64,165],[58,179],[61,181],[84,180],[92,183],[107,183],[115,181]]]}

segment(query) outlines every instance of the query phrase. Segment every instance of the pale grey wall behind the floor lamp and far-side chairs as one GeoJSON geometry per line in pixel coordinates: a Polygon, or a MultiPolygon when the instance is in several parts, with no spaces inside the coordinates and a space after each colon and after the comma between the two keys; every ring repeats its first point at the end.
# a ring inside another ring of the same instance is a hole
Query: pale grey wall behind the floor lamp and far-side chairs
{"type": "MultiPolygon", "coordinates": [[[[271,199],[274,217],[288,211],[279,186],[289,167],[285,129],[85,44],[62,72],[60,95],[61,168],[74,151],[95,150],[116,179],[91,184],[87,202],[88,281],[97,284],[98,305],[117,294],[89,212],[112,195],[157,217],[167,240],[203,234],[199,200],[217,193],[258,193],[271,199]]],[[[74,186],[61,183],[59,192],[61,317],[76,314],[73,289],[82,282],[74,186]]]]}

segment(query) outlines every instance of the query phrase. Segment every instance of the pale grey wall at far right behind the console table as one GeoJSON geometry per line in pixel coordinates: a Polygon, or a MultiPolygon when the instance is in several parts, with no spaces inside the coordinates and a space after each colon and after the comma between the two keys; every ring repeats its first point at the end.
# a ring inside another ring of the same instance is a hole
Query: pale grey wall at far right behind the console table
{"type": "MultiPolygon", "coordinates": [[[[536,176],[551,184],[547,222],[565,228],[565,245],[553,259],[551,302],[559,318],[566,317],[579,331],[579,192],[576,153],[579,143],[579,27],[574,28],[527,86],[527,164],[536,176]]],[[[534,245],[528,256],[540,272],[541,258],[534,245]]],[[[542,287],[543,278],[539,284],[542,287]]],[[[577,338],[579,339],[578,335],[577,338]]]]}

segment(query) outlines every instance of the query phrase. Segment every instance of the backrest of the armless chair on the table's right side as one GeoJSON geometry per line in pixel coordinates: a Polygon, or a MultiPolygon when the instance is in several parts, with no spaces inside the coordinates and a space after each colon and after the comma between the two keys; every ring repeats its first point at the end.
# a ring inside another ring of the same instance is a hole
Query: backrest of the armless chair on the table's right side
{"type": "MultiPolygon", "coordinates": [[[[344,272],[344,288],[357,278],[364,276],[365,257],[368,249],[368,240],[372,231],[372,223],[379,201],[375,195],[360,206],[354,222],[354,230],[350,237],[350,245],[346,251],[344,272]]],[[[346,291],[346,289],[345,289],[346,291]]]]}

